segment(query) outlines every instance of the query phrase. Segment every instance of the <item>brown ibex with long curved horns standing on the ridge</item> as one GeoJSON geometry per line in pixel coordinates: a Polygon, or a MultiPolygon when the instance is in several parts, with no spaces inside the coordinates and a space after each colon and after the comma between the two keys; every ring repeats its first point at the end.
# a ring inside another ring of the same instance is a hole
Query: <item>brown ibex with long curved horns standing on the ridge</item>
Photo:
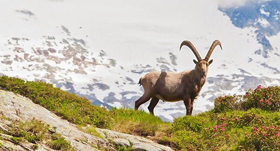
{"type": "Polygon", "coordinates": [[[140,78],[138,83],[140,86],[143,86],[144,94],[135,102],[135,110],[138,110],[141,104],[146,103],[152,98],[148,109],[150,114],[154,115],[153,110],[159,99],[164,102],[183,100],[187,110],[186,114],[192,115],[194,100],[206,82],[208,66],[213,62],[213,59],[209,62],[208,60],[217,45],[222,49],[220,41],[215,40],[209,48],[206,57],[201,59],[193,44],[190,41],[183,41],[180,50],[182,46],[188,46],[193,51],[198,60],[193,60],[195,69],[179,73],[168,71],[152,71],[147,73],[144,77],[140,78]]]}

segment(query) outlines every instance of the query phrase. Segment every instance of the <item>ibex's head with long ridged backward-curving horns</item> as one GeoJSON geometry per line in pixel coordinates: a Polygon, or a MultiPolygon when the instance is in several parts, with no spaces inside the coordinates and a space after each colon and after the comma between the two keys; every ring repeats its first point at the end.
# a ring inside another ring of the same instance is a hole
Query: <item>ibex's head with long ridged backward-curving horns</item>
{"type": "Polygon", "coordinates": [[[215,40],[212,43],[211,47],[209,48],[208,53],[206,54],[205,58],[201,59],[199,53],[197,52],[197,50],[195,49],[195,47],[193,46],[193,44],[190,41],[187,41],[187,40],[183,41],[181,43],[180,50],[184,45],[188,46],[193,51],[194,55],[196,56],[198,61],[196,61],[195,59],[193,60],[193,62],[196,64],[195,69],[201,71],[200,73],[201,73],[202,76],[207,75],[208,66],[213,62],[213,59],[210,60],[210,61],[208,61],[208,60],[209,60],[209,58],[211,56],[211,53],[213,52],[214,48],[217,45],[219,45],[220,48],[222,49],[220,41],[215,40]]]}

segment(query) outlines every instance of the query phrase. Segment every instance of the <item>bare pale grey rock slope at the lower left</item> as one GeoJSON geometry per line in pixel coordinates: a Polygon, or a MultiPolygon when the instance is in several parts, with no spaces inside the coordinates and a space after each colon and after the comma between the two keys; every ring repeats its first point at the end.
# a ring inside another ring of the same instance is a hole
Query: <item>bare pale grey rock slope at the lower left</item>
{"type": "MultiPolygon", "coordinates": [[[[11,121],[36,118],[55,127],[55,131],[69,141],[75,150],[116,150],[116,146],[131,147],[132,150],[172,150],[139,136],[123,134],[107,129],[96,129],[102,138],[81,131],[77,125],[71,124],[61,117],[54,115],[45,108],[34,104],[31,100],[11,92],[0,91],[0,150],[24,150],[31,148],[32,143],[15,144],[9,141],[11,121]]],[[[44,144],[38,144],[38,150],[52,150],[44,144]]]]}

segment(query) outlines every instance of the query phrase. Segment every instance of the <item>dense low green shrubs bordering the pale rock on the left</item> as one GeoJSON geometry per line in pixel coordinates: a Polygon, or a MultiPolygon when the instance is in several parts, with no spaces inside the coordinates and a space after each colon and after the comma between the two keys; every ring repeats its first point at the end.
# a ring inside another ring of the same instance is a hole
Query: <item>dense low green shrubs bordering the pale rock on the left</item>
{"type": "Polygon", "coordinates": [[[54,88],[51,84],[2,76],[0,87],[31,99],[71,123],[93,124],[101,128],[110,126],[111,115],[105,108],[91,105],[86,98],[54,88]]]}

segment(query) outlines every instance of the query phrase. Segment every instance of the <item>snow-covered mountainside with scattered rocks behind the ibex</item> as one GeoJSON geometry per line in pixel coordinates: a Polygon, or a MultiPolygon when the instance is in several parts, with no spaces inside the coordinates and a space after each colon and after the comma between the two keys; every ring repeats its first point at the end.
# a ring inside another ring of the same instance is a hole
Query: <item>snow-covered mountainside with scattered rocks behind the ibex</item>
{"type": "MultiPolygon", "coordinates": [[[[215,39],[208,78],[194,113],[220,95],[280,83],[280,1],[0,2],[0,72],[42,80],[107,107],[134,107],[138,80],[153,70],[193,69],[190,40],[204,57],[215,39]]],[[[146,104],[140,108],[147,111],[146,104]]],[[[183,102],[160,101],[155,115],[186,114],[183,102]]]]}

